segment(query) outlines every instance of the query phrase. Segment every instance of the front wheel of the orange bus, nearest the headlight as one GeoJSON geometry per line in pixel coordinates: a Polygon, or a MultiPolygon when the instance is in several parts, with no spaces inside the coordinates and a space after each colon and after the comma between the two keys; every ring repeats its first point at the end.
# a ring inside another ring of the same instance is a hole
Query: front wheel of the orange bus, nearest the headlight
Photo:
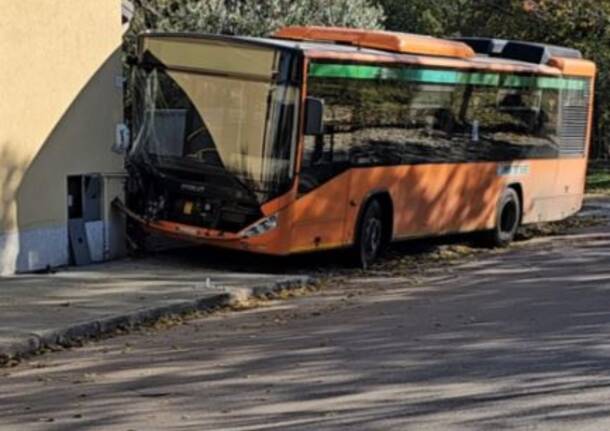
{"type": "Polygon", "coordinates": [[[370,201],[358,225],[354,252],[362,269],[368,269],[384,246],[383,210],[378,200],[370,201]]]}

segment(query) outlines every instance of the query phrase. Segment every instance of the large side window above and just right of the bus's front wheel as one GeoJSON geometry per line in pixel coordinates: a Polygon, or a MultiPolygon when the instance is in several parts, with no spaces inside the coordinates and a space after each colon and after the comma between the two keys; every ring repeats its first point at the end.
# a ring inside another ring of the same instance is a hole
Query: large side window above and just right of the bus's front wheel
{"type": "Polygon", "coordinates": [[[451,141],[455,87],[404,80],[359,81],[351,163],[387,166],[459,159],[451,141]]]}

